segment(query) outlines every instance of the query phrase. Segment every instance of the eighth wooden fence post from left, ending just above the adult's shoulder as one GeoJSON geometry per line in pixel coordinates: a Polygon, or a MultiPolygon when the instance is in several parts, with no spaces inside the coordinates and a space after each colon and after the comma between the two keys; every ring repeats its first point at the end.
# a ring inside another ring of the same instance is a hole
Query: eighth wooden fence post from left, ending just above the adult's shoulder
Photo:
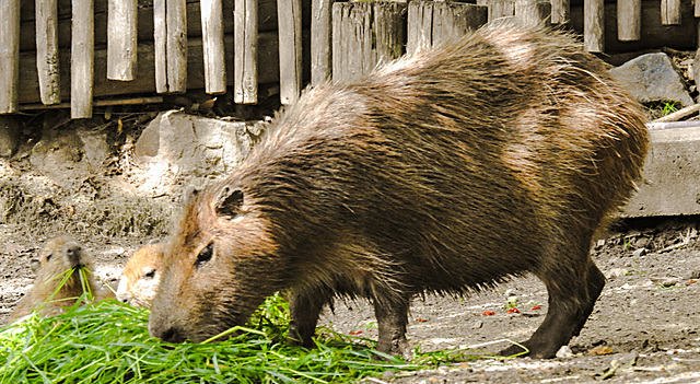
{"type": "Polygon", "coordinates": [[[302,2],[277,0],[280,38],[280,101],[287,105],[302,92],[302,2]]]}

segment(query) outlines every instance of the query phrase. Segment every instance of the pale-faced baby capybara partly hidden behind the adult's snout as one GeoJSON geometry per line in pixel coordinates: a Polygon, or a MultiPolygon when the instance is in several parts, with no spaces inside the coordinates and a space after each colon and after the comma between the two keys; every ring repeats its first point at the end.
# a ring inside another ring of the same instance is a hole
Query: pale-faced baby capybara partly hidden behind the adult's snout
{"type": "Polygon", "coordinates": [[[150,243],[129,257],[117,288],[117,300],[136,307],[151,307],[163,275],[163,244],[150,243]]]}

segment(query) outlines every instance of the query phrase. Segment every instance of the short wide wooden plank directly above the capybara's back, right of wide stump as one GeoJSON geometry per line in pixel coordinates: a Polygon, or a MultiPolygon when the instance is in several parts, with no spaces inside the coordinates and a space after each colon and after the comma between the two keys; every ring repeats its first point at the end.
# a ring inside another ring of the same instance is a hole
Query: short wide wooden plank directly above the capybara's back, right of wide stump
{"type": "Polygon", "coordinates": [[[433,9],[433,46],[459,38],[469,30],[476,30],[488,21],[486,5],[457,2],[435,3],[433,9]]]}

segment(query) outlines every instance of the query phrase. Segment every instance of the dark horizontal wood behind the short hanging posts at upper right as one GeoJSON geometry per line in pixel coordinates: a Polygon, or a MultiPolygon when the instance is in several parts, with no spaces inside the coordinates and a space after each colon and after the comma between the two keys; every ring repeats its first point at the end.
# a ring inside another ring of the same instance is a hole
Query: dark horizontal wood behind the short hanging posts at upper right
{"type": "MultiPolygon", "coordinates": [[[[625,53],[660,47],[696,50],[698,48],[696,46],[698,31],[691,0],[681,0],[680,9],[680,25],[662,25],[658,1],[642,1],[641,38],[634,42],[620,42],[617,38],[617,4],[606,1],[605,51],[625,53]]],[[[571,26],[575,32],[583,33],[583,9],[581,7],[572,8],[571,26]]]]}

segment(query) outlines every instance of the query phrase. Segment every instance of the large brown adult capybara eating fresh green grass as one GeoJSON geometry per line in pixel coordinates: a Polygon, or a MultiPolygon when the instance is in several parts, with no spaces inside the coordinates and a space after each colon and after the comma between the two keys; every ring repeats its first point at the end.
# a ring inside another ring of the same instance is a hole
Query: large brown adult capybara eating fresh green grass
{"type": "Polygon", "coordinates": [[[634,190],[648,140],[640,106],[560,32],[487,26],[317,86],[192,194],[150,333],[201,341],[288,290],[302,346],[335,295],[362,296],[377,349],[400,353],[411,298],[533,272],[549,307],[524,345],[553,357],[605,284],[592,238],[634,190]]]}

